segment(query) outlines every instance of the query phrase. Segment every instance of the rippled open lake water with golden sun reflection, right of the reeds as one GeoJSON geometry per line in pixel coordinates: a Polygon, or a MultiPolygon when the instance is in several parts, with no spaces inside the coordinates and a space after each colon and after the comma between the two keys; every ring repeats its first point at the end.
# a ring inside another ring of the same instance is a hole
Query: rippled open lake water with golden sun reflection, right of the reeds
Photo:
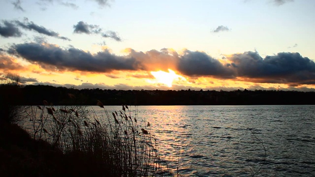
{"type": "MultiPolygon", "coordinates": [[[[103,111],[94,107],[99,115],[103,111]]],[[[108,112],[120,106],[106,106],[108,112]]],[[[182,176],[315,176],[315,106],[138,106],[182,176]],[[251,128],[252,132],[248,129],[251,128]],[[255,136],[262,141],[262,144],[255,136]],[[264,158],[266,158],[264,160],[264,158]]],[[[130,107],[132,115],[135,107],[130,107]]]]}

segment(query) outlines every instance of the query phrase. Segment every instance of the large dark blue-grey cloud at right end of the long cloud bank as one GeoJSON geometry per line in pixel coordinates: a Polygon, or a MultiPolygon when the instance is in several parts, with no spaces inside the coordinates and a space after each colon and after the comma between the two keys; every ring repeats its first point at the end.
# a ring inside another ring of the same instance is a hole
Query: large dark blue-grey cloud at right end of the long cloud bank
{"type": "Polygon", "coordinates": [[[315,84],[315,62],[299,53],[278,53],[262,59],[257,52],[246,52],[228,59],[239,77],[266,83],[315,84]]]}

